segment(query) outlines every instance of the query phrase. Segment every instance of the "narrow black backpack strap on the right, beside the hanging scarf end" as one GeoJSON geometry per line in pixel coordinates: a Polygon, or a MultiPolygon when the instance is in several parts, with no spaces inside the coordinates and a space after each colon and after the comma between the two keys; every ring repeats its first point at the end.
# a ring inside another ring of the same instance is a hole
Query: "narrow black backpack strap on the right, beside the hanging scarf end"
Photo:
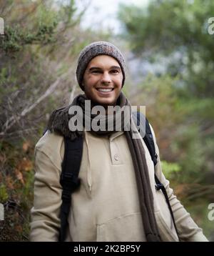
{"type": "MultiPolygon", "coordinates": [[[[146,117],[141,112],[133,112],[133,117],[134,117],[133,120],[134,120],[134,122],[136,122],[137,126],[138,127],[140,126],[140,131],[143,130],[143,122],[146,122],[146,132],[145,132],[145,136],[143,137],[143,141],[145,142],[146,147],[148,148],[148,151],[151,154],[151,159],[153,160],[154,167],[156,167],[156,164],[158,162],[158,154],[156,154],[156,147],[155,147],[155,144],[154,144],[153,134],[151,132],[151,127],[149,125],[148,119],[146,119],[146,117]]],[[[144,128],[144,130],[145,130],[145,128],[144,128]]],[[[140,132],[140,131],[138,131],[138,132],[140,132]]],[[[156,172],[155,172],[155,180],[156,180],[156,189],[157,190],[161,189],[161,191],[163,192],[163,195],[165,197],[165,201],[168,205],[168,209],[170,211],[170,215],[171,215],[172,220],[173,220],[173,225],[175,227],[175,231],[178,235],[178,230],[177,230],[177,227],[175,225],[175,217],[173,215],[173,210],[170,206],[170,202],[168,200],[167,192],[166,192],[165,187],[163,186],[163,184],[160,182],[160,180],[156,176],[156,172]]],[[[178,239],[179,239],[179,236],[178,236],[178,239]]]]}

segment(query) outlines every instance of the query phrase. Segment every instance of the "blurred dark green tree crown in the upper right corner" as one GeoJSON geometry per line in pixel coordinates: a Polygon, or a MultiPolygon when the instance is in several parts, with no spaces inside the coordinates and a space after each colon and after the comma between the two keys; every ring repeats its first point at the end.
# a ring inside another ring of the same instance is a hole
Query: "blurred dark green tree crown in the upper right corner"
{"type": "Polygon", "coordinates": [[[118,16],[123,38],[136,54],[155,62],[168,57],[167,72],[181,75],[188,94],[211,97],[214,35],[208,34],[208,18],[213,11],[210,0],[154,0],[147,9],[122,4],[118,16]]]}

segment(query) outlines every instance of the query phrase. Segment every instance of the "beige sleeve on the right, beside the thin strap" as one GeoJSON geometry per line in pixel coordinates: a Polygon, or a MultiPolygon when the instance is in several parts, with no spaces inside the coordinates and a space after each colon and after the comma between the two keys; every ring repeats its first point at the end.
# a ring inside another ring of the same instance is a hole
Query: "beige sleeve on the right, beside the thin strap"
{"type": "Polygon", "coordinates": [[[180,204],[180,201],[173,194],[173,189],[169,186],[169,181],[165,179],[165,176],[161,168],[161,160],[158,145],[156,143],[156,137],[151,127],[153,133],[153,138],[156,147],[156,153],[158,154],[158,163],[156,164],[156,175],[161,183],[164,185],[166,192],[168,193],[168,198],[170,205],[173,210],[173,215],[175,217],[175,224],[178,228],[178,235],[181,241],[186,242],[208,242],[205,235],[203,235],[203,230],[196,225],[193,219],[190,217],[190,214],[185,210],[183,205],[180,204]]]}

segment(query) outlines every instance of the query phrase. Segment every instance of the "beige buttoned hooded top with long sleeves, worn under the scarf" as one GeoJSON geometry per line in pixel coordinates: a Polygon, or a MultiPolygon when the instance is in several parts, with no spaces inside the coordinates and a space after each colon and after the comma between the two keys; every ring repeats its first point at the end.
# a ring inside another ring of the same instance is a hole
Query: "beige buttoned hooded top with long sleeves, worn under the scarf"
{"type": "MultiPolygon", "coordinates": [[[[158,230],[163,241],[178,241],[165,197],[155,189],[151,156],[143,139],[141,141],[148,164],[158,230]]],[[[35,154],[30,240],[57,241],[60,227],[59,179],[64,154],[63,137],[46,132],[36,144],[35,154]]],[[[168,192],[180,239],[207,241],[202,230],[173,195],[173,189],[170,189],[161,170],[159,158],[156,174],[168,192]]],[[[85,132],[79,177],[81,187],[71,195],[66,241],[146,241],[135,171],[123,132],[116,132],[110,137],[97,137],[85,132]]]]}

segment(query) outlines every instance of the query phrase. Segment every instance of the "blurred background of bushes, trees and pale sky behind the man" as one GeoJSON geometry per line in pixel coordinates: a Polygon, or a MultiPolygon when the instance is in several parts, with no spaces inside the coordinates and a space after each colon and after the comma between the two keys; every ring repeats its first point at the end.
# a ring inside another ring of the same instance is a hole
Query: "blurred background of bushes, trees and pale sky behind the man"
{"type": "Polygon", "coordinates": [[[124,92],[146,105],[165,176],[214,241],[212,16],[213,0],[0,0],[0,241],[28,240],[35,144],[81,93],[78,53],[97,40],[124,53],[124,92]]]}

